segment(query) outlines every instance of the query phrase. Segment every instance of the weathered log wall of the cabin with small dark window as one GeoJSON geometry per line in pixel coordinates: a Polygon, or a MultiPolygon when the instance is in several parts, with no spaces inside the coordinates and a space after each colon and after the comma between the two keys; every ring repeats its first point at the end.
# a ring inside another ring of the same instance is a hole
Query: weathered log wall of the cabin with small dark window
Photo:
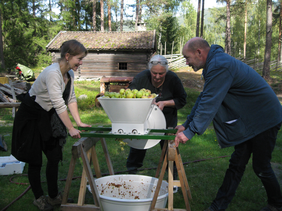
{"type": "MultiPolygon", "coordinates": [[[[97,51],[96,51],[97,52],[97,51]]],[[[92,53],[89,52],[83,59],[83,64],[74,72],[75,78],[102,78],[136,76],[146,69],[151,59],[151,53],[146,51],[131,51],[116,53],[92,53]],[[127,62],[127,70],[119,70],[118,63],[127,62]]],[[[55,54],[56,59],[60,57],[55,54]]]]}

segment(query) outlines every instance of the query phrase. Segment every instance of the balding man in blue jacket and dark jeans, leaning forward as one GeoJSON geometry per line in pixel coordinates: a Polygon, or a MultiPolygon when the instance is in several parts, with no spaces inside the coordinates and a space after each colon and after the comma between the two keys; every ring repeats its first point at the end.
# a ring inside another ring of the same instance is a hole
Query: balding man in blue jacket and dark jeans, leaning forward
{"type": "Polygon", "coordinates": [[[282,122],[281,104],[266,81],[250,66],[209,46],[200,37],[183,47],[186,64],[203,69],[203,91],[184,124],[178,125],[176,146],[196,133],[201,135],[213,121],[221,148],[234,146],[222,186],[206,211],[224,211],[235,195],[246,164],[253,154],[253,169],[267,194],[261,211],[282,210],[279,183],[271,168],[271,154],[282,122]]]}

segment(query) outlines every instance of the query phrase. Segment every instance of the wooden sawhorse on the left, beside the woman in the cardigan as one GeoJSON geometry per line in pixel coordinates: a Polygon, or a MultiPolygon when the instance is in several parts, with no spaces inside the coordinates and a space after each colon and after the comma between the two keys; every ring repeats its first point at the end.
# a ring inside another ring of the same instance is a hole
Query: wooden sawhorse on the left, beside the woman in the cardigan
{"type": "MultiPolygon", "coordinates": [[[[102,126],[99,126],[102,127],[102,126]]],[[[101,131],[91,131],[91,133],[101,133],[101,131]]],[[[98,194],[98,190],[94,181],[94,177],[92,174],[92,170],[90,167],[90,161],[92,160],[92,163],[94,165],[94,170],[96,173],[96,177],[100,178],[102,177],[100,166],[98,163],[98,158],[95,150],[95,145],[97,142],[101,141],[102,148],[105,154],[106,162],[108,165],[109,173],[110,175],[114,175],[113,166],[111,163],[111,159],[109,156],[109,151],[107,149],[107,144],[105,142],[105,138],[90,138],[90,137],[83,137],[80,140],[78,140],[74,145],[72,145],[72,156],[70,160],[70,167],[69,172],[67,176],[67,181],[65,185],[65,191],[63,194],[63,200],[61,204],[61,210],[63,211],[100,211],[100,197],[98,194]],[[70,191],[70,185],[72,182],[72,176],[74,173],[74,168],[76,164],[76,159],[82,158],[83,162],[83,171],[81,176],[81,183],[80,183],[80,191],[78,196],[78,203],[67,203],[67,199],[69,196],[70,191]],[[85,191],[86,191],[86,184],[87,184],[87,178],[89,181],[89,185],[91,187],[91,192],[93,195],[94,203],[95,205],[89,205],[84,204],[85,199],[85,191]],[[97,197],[98,196],[98,197],[97,197]]]]}

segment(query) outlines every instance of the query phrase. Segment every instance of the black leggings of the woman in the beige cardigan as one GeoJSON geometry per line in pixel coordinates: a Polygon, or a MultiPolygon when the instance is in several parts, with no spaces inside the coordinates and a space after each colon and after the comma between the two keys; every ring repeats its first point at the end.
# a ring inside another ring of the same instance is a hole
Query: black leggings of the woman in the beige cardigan
{"type": "MultiPolygon", "coordinates": [[[[58,195],[58,164],[62,157],[62,147],[60,146],[59,141],[56,141],[54,142],[54,145],[43,146],[43,152],[47,158],[46,179],[48,195],[51,198],[54,198],[58,195]]],[[[28,180],[36,199],[44,195],[40,179],[41,167],[42,164],[28,164],[28,180]]]]}

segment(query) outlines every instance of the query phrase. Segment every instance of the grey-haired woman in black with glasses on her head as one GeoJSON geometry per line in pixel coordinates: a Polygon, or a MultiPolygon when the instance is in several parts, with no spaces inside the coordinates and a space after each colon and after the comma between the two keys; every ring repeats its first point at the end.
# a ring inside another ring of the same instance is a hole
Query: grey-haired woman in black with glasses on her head
{"type": "MultiPolygon", "coordinates": [[[[177,126],[177,110],[186,104],[186,92],[177,75],[168,70],[168,61],[161,55],[155,55],[148,63],[148,69],[138,73],[128,88],[149,89],[156,93],[158,98],[155,104],[162,110],[166,118],[166,127],[177,126]]],[[[160,141],[161,149],[164,140],[160,141]]],[[[143,166],[146,149],[130,147],[126,167],[129,174],[136,174],[137,169],[143,166]]],[[[174,163],[173,179],[177,180],[177,169],[174,163]]]]}

